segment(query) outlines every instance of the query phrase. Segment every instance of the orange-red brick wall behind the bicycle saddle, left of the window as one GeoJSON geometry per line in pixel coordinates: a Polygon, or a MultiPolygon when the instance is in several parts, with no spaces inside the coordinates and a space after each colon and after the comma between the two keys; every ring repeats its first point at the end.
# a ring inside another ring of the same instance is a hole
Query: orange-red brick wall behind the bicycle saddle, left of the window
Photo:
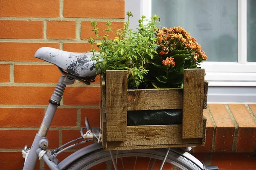
{"type": "MultiPolygon", "coordinates": [[[[89,51],[87,39],[94,36],[90,21],[98,21],[103,30],[110,20],[118,29],[124,17],[124,0],[0,0],[1,170],[22,169],[20,151],[31,146],[61,76],[55,65],[36,59],[35,51],[44,46],[89,51]]],[[[79,137],[85,116],[91,126],[99,126],[99,98],[99,77],[92,85],[67,87],[47,135],[49,148],[79,137]]],[[[44,169],[43,161],[36,169],[44,169]]]]}

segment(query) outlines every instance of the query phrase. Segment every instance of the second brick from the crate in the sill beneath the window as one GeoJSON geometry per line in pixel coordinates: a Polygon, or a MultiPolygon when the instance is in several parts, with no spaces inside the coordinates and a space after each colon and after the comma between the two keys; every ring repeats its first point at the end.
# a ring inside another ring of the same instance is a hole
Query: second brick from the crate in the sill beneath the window
{"type": "Polygon", "coordinates": [[[208,107],[216,124],[215,152],[231,152],[235,125],[225,105],[212,104],[208,107]]]}

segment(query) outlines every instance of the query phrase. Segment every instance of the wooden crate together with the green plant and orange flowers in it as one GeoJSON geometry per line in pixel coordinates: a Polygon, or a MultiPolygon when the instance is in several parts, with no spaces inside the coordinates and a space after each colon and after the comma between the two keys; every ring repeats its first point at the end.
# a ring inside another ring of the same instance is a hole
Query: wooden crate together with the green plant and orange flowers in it
{"type": "Polygon", "coordinates": [[[105,150],[187,147],[205,143],[203,119],[207,85],[200,62],[207,59],[195,38],[181,27],[158,29],[159,17],[142,16],[137,31],[128,22],[117,30],[111,22],[104,36],[97,23],[89,38],[96,70],[101,70],[101,128],[105,150]],[[97,43],[99,51],[93,49],[97,43]],[[189,68],[189,69],[187,69],[189,68]],[[182,109],[181,125],[127,126],[127,112],[182,109]]]}

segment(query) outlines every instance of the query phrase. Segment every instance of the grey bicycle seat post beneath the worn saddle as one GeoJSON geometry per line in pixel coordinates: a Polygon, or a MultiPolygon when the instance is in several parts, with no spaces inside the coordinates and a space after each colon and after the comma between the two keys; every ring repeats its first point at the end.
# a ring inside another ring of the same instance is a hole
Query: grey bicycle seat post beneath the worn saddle
{"type": "Polygon", "coordinates": [[[63,92],[66,88],[66,85],[72,85],[75,82],[75,79],[70,77],[61,76],[55,91],[53,92],[51,99],[49,100],[49,105],[47,111],[44,115],[43,122],[41,123],[40,129],[38,130],[38,136],[46,137],[47,131],[52,123],[53,116],[60,105],[63,92]]]}

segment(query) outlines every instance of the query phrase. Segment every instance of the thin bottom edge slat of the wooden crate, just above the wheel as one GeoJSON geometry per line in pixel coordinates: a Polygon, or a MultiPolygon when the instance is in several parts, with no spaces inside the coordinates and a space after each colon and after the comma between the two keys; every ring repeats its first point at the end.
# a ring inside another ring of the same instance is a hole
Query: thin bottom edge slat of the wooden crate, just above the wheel
{"type": "Polygon", "coordinates": [[[157,144],[157,145],[143,145],[143,146],[116,146],[116,147],[107,147],[107,148],[104,148],[104,150],[134,150],[134,149],[154,149],[154,148],[189,147],[189,146],[202,146],[202,144],[196,143],[196,144],[157,144]]]}

